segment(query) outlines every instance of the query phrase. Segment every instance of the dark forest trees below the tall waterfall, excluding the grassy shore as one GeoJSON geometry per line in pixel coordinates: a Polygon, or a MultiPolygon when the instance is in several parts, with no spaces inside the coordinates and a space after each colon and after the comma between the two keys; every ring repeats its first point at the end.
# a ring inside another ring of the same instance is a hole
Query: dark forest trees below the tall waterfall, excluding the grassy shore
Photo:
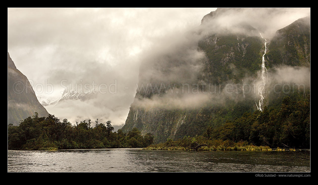
{"type": "Polygon", "coordinates": [[[285,97],[278,108],[244,113],[242,117],[228,121],[218,128],[210,127],[204,133],[207,138],[249,141],[257,146],[310,147],[310,97],[295,101],[285,97]]]}

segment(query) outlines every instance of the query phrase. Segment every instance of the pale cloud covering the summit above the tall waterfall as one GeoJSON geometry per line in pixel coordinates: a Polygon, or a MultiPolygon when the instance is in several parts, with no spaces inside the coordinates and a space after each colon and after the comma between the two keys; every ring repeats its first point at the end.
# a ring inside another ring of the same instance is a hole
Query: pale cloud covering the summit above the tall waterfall
{"type": "Polygon", "coordinates": [[[246,26],[250,25],[257,29],[257,34],[259,31],[263,37],[271,38],[277,30],[307,16],[310,8],[221,8],[204,17],[202,29],[207,34],[224,31],[246,34],[246,26]],[[238,26],[242,23],[245,27],[238,26]]]}

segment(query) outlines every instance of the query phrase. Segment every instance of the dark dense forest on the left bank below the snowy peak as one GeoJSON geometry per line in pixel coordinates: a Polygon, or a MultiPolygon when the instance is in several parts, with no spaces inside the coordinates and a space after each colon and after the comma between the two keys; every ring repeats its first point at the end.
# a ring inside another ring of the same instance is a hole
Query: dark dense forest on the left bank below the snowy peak
{"type": "Polygon", "coordinates": [[[141,135],[135,128],[128,133],[121,129],[113,132],[111,121],[106,124],[91,120],[72,125],[67,119],[60,121],[54,115],[31,118],[21,121],[19,126],[8,126],[8,149],[57,150],[76,148],[138,148],[153,144],[151,134],[141,135]]]}

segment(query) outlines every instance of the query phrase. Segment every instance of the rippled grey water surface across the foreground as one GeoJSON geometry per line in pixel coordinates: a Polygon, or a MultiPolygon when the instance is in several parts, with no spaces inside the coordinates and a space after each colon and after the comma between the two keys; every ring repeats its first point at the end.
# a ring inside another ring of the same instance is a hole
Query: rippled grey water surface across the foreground
{"type": "Polygon", "coordinates": [[[9,172],[309,172],[310,151],[8,150],[9,172]]]}

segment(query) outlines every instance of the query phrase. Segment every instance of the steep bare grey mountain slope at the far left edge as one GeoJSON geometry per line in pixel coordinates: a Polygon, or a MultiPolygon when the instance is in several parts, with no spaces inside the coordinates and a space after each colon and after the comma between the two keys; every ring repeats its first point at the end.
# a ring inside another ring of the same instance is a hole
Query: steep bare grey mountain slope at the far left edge
{"type": "Polygon", "coordinates": [[[20,120],[49,113],[39,103],[29,80],[14,65],[8,53],[8,124],[18,125],[20,120]]]}

